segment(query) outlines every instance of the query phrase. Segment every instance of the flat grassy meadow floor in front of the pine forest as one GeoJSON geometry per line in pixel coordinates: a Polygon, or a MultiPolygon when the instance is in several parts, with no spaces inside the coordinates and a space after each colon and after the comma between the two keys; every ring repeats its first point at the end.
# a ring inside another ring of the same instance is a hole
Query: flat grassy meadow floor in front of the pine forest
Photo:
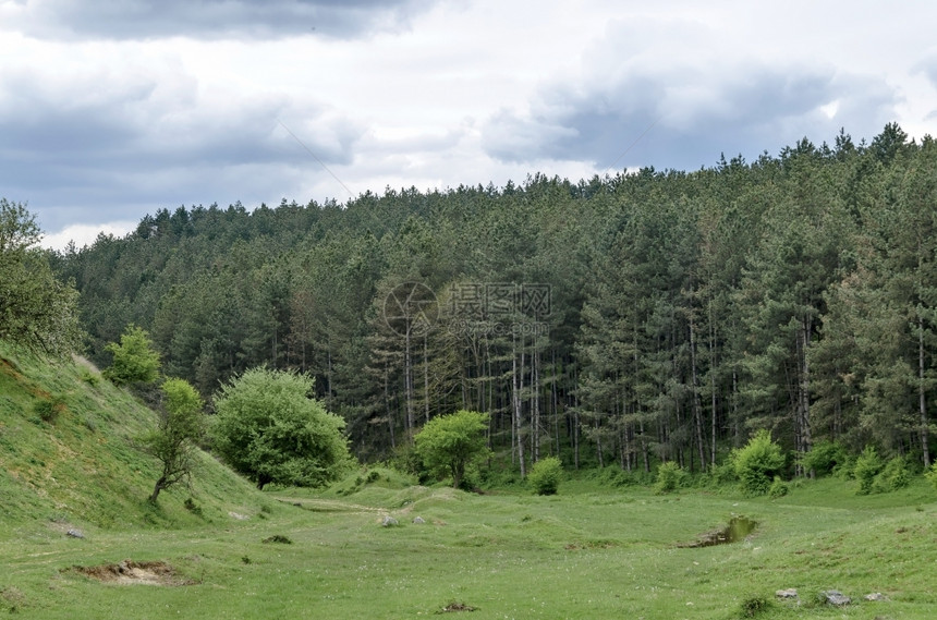
{"type": "Polygon", "coordinates": [[[937,605],[937,504],[923,482],[859,498],[820,481],[775,501],[585,482],[552,497],[398,486],[265,493],[267,508],[247,519],[84,539],[36,524],[0,542],[0,604],[62,619],[392,619],[447,607],[474,608],[461,611],[473,619],[924,619],[937,605]],[[756,520],[755,533],[681,546],[733,514],[756,520]],[[400,524],[381,526],[385,515],[400,524]],[[289,543],[265,543],[272,537],[289,543]],[[187,584],[117,585],[66,570],[124,559],[167,562],[187,584]],[[776,599],[790,587],[799,603],[776,599]],[[818,604],[826,589],[854,603],[818,604]],[[862,599],[875,592],[888,600],[862,599]]]}

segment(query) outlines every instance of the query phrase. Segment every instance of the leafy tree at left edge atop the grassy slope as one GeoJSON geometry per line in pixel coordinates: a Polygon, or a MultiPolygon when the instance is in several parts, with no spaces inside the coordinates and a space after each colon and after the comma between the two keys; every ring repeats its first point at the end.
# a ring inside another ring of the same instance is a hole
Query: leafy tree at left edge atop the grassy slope
{"type": "Polygon", "coordinates": [[[0,198],[0,340],[65,357],[81,348],[78,293],[52,273],[41,236],[24,205],[0,198]]]}

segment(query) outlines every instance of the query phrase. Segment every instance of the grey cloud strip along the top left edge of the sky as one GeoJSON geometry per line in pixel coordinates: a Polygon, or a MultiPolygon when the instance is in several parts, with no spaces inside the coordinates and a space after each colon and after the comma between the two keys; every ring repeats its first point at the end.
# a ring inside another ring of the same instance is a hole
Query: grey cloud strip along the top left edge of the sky
{"type": "Polygon", "coordinates": [[[405,28],[430,4],[431,0],[37,0],[21,4],[13,25],[41,38],[272,39],[314,34],[343,39],[405,28]]]}

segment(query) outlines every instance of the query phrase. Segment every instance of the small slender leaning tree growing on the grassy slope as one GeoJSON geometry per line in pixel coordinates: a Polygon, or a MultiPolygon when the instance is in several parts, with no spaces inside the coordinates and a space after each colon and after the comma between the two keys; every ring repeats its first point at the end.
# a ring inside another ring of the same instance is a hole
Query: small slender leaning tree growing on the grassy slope
{"type": "Polygon", "coordinates": [[[192,475],[196,447],[206,428],[202,413],[204,403],[188,381],[168,379],[162,384],[162,393],[159,425],[139,439],[144,451],[156,457],[162,465],[149,496],[151,502],[159,498],[160,491],[192,475]]]}

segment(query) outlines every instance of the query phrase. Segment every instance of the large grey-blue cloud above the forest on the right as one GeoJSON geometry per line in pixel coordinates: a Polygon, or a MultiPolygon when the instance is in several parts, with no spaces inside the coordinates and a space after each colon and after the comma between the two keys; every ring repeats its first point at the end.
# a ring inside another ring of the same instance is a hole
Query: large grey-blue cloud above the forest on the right
{"type": "Polygon", "coordinates": [[[552,85],[532,113],[490,119],[487,153],[514,162],[694,170],[716,163],[721,153],[751,160],[804,136],[831,139],[841,126],[868,136],[891,120],[895,104],[884,83],[804,68],[737,68],[731,76],[633,70],[613,83],[577,86],[571,95],[567,85],[552,85]],[[829,118],[820,108],[833,101],[838,110],[829,118]]]}

